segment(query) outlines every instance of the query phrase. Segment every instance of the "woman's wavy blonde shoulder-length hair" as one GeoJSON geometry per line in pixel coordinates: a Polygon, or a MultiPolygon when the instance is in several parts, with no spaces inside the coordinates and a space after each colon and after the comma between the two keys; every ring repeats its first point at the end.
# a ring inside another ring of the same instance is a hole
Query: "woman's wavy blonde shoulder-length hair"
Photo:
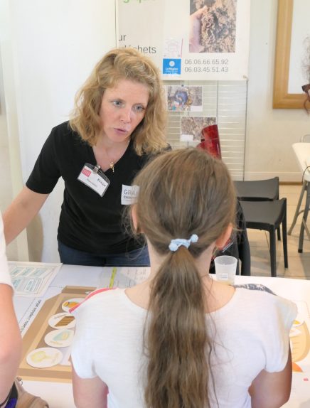
{"type": "Polygon", "coordinates": [[[131,80],[146,85],[149,102],[144,119],[134,129],[134,149],[141,154],[154,154],[167,146],[166,100],[159,70],[150,58],[134,48],[110,50],[92,70],[90,77],[75,96],[70,115],[70,127],[90,146],[95,146],[102,129],[100,106],[107,88],[119,80],[131,80]]]}

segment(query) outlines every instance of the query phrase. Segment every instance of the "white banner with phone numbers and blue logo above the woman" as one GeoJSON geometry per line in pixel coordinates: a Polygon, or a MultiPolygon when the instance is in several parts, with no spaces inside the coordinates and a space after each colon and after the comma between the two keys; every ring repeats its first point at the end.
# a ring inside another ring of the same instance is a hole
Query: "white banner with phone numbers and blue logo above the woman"
{"type": "Polygon", "coordinates": [[[249,0],[118,0],[119,47],[149,55],[164,80],[245,80],[249,0]]]}

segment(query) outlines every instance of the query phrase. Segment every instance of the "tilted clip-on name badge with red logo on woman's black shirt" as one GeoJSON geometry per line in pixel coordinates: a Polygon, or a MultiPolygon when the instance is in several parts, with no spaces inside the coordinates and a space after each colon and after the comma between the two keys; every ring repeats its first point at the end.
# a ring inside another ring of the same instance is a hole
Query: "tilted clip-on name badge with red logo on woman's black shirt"
{"type": "Polygon", "coordinates": [[[90,187],[101,197],[103,197],[109,187],[109,178],[100,170],[98,164],[97,166],[92,166],[92,164],[85,163],[77,180],[82,181],[82,183],[90,187]]]}

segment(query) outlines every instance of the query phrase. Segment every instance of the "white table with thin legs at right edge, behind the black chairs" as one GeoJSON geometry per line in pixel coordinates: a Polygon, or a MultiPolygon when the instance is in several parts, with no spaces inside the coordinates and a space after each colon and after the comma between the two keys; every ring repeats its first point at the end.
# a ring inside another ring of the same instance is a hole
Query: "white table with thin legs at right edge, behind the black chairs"
{"type": "Polygon", "coordinates": [[[310,205],[310,183],[309,183],[310,182],[310,167],[309,167],[310,165],[310,143],[294,143],[292,147],[293,147],[294,153],[296,154],[296,159],[299,163],[299,168],[301,169],[301,172],[302,172],[301,175],[302,175],[303,184],[302,184],[301,193],[299,195],[299,200],[298,200],[297,207],[296,207],[294,220],[287,234],[291,235],[299,214],[303,213],[304,215],[301,221],[301,227],[300,227],[300,233],[299,233],[299,245],[298,245],[298,252],[301,253],[303,251],[304,231],[305,230],[306,230],[306,234],[308,235],[310,239],[310,232],[306,225],[306,220],[308,218],[309,205],[310,205]],[[304,198],[304,193],[306,193],[306,205],[303,210],[300,210],[301,201],[304,198]]]}

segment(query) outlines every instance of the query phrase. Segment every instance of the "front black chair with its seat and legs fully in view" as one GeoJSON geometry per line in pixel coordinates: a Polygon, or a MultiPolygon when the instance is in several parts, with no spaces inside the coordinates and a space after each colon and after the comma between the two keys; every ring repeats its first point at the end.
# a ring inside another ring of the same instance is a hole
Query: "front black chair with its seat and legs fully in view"
{"type": "Polygon", "coordinates": [[[273,201],[241,201],[247,228],[269,232],[271,275],[277,277],[275,231],[282,224],[284,267],[287,259],[287,199],[273,201]]]}

